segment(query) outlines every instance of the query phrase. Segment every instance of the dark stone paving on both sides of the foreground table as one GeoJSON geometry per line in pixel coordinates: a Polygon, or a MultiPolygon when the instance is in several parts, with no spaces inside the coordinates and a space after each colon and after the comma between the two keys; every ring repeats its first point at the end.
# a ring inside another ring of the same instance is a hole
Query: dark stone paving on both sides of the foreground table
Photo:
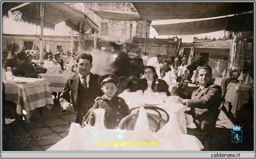
{"type": "MultiPolygon", "coordinates": [[[[210,150],[253,151],[253,130],[242,128],[242,142],[232,142],[231,126],[233,123],[224,112],[221,111],[216,131],[212,140],[209,141],[210,150]]],[[[50,111],[44,108],[42,118],[38,111],[34,111],[29,124],[14,121],[2,126],[2,151],[45,151],[68,135],[70,124],[75,118],[74,112],[64,112],[60,106],[54,106],[50,111]],[[39,137],[48,140],[35,140],[39,137]]]]}

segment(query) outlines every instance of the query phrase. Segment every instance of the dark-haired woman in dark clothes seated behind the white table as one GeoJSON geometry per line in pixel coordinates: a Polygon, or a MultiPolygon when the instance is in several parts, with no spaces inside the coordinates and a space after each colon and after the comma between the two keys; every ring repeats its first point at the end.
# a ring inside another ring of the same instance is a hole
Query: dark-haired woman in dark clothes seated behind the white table
{"type": "Polygon", "coordinates": [[[142,74],[145,78],[142,78],[137,84],[137,90],[152,90],[153,92],[166,92],[167,96],[170,96],[168,91],[168,84],[161,79],[158,79],[156,70],[153,66],[145,66],[142,74]],[[151,85],[151,86],[150,86],[151,85]]]}

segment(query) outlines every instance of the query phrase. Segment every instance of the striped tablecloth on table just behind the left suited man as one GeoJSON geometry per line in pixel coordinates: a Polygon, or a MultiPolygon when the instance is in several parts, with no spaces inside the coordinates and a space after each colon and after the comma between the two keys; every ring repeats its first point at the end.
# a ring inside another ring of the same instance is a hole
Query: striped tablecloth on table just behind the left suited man
{"type": "Polygon", "coordinates": [[[67,79],[72,75],[67,74],[39,74],[49,82],[51,92],[62,92],[67,79]]]}

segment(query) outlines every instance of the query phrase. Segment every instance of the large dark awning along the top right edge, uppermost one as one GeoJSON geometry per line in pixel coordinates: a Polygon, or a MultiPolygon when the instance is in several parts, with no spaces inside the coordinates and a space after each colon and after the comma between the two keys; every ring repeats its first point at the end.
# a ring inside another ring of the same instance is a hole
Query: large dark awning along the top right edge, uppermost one
{"type": "Polygon", "coordinates": [[[254,10],[253,2],[227,3],[132,3],[141,20],[200,19],[238,14],[254,10]]]}

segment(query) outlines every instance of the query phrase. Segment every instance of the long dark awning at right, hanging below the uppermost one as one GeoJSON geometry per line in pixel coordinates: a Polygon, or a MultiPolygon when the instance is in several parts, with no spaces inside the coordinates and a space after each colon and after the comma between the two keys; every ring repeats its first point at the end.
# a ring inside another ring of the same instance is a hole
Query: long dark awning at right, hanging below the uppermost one
{"type": "Polygon", "coordinates": [[[158,35],[194,35],[221,30],[253,31],[253,18],[254,13],[250,13],[218,19],[152,26],[158,35]]]}

